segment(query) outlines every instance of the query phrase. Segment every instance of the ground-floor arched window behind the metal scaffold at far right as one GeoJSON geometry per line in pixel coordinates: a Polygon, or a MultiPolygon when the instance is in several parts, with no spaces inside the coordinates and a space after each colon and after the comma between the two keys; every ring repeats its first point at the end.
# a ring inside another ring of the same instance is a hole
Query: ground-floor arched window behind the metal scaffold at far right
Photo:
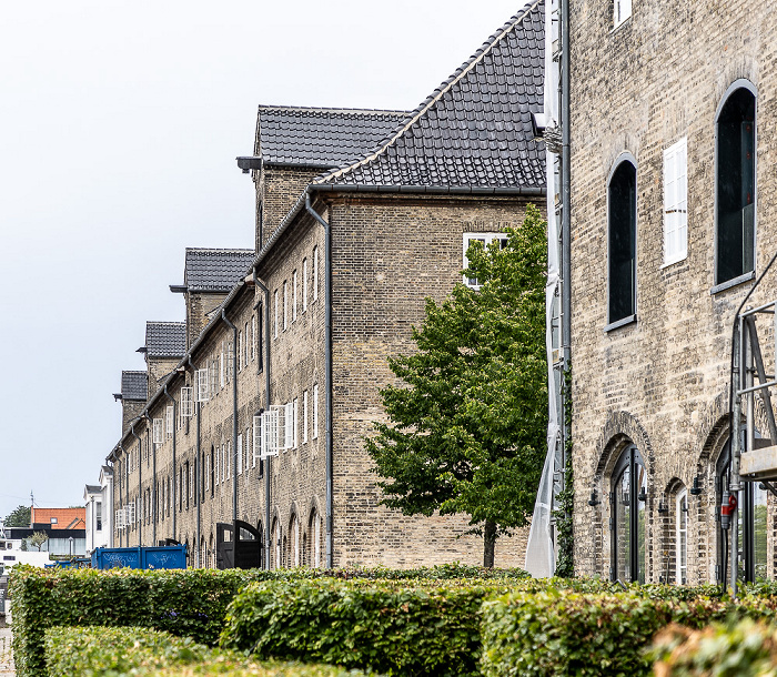
{"type": "MultiPolygon", "coordinates": [[[[745,432],[743,431],[743,442],[745,432]]],[[[756,431],[756,438],[760,438],[760,434],[756,431]]],[[[729,469],[731,466],[731,445],[730,441],[726,443],[717,463],[717,481],[716,481],[716,503],[720,506],[723,494],[728,489],[729,469]]],[[[738,518],[738,548],[739,548],[739,578],[744,580],[766,580],[767,573],[767,516],[766,516],[766,491],[760,488],[757,482],[743,482],[743,489],[739,492],[739,505],[737,508],[738,518]]],[[[724,540],[723,529],[718,521],[718,575],[717,578],[723,578],[723,559],[724,547],[727,540],[724,540]]],[[[730,535],[730,531],[729,531],[730,535]]],[[[730,552],[730,546],[729,546],[730,552]]],[[[728,566],[730,567],[730,556],[728,566]]],[[[728,574],[730,575],[730,568],[728,574]]]]}

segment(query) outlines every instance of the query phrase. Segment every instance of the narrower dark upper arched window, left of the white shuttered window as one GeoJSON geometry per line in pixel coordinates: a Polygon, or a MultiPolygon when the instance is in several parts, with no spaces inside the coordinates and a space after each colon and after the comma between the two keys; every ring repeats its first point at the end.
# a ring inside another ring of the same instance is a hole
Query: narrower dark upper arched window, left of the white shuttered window
{"type": "Polygon", "coordinates": [[[623,160],[607,190],[608,323],[628,321],[637,300],[637,168],[623,160]]]}

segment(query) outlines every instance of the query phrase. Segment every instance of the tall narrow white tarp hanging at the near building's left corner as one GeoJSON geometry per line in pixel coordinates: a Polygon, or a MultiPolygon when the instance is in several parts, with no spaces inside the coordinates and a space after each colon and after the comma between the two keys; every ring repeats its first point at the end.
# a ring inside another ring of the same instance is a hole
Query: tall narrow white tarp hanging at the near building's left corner
{"type": "MultiPolygon", "coordinates": [[[[545,3],[545,92],[544,113],[546,129],[558,128],[558,64],[553,60],[554,43],[558,40],[558,0],[545,3]]],[[[545,285],[545,344],[547,348],[548,380],[548,423],[547,423],[547,455],[543,467],[537,499],[534,504],[532,527],[528,533],[526,547],[526,570],[535,578],[553,576],[556,568],[556,554],[553,543],[551,512],[553,509],[554,475],[561,468],[561,420],[557,384],[561,374],[554,372],[554,323],[556,336],[559,309],[559,274],[558,274],[558,223],[556,218],[556,194],[558,176],[556,175],[557,158],[555,153],[545,151],[545,170],[547,181],[547,283],[545,285]]],[[[555,346],[557,347],[557,346],[555,346]]]]}

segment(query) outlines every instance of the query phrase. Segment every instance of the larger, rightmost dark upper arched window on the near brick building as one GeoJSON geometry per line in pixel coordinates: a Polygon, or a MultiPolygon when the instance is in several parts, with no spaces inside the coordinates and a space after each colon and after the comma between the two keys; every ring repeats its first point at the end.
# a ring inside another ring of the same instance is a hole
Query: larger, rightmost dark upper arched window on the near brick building
{"type": "Polygon", "coordinates": [[[741,81],[716,121],[716,284],[755,270],[756,98],[741,81]]]}

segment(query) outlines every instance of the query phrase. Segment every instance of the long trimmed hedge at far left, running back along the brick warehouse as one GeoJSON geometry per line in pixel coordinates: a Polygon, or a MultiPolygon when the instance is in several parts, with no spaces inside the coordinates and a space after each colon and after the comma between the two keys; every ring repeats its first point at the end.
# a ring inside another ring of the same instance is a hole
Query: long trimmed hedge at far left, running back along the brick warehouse
{"type": "Polygon", "coordinates": [[[522,569],[484,569],[461,564],[416,569],[40,569],[13,567],[13,653],[19,677],[44,675],[43,631],[51,626],[143,626],[214,645],[229,603],[254,580],[445,580],[521,582],[522,569]]]}

